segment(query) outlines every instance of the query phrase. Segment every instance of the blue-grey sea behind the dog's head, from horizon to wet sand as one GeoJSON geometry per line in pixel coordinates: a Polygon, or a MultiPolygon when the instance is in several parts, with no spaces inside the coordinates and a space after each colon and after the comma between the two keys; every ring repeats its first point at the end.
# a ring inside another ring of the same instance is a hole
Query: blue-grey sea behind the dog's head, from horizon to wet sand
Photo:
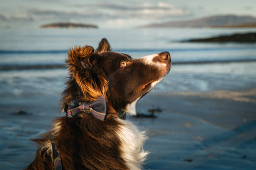
{"type": "Polygon", "coordinates": [[[97,48],[103,37],[114,51],[133,58],[170,52],[172,70],[155,91],[255,87],[256,44],[181,42],[250,31],[255,29],[1,29],[0,95],[29,94],[47,86],[58,87],[50,91],[60,93],[66,77],[66,52],[78,45],[97,48]]]}

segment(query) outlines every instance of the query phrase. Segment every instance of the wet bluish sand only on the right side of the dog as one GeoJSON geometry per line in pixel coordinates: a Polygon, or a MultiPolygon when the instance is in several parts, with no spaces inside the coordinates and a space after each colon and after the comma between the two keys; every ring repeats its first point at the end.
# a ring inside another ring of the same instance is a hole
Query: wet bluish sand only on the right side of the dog
{"type": "Polygon", "coordinates": [[[138,110],[160,106],[163,112],[138,122],[150,135],[145,169],[255,169],[255,92],[146,96],[138,110]]]}

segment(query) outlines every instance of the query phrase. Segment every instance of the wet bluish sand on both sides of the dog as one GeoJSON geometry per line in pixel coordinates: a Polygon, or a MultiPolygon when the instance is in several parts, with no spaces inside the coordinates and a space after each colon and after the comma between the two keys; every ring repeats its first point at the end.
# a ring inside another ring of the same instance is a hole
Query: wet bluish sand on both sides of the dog
{"type": "MultiPolygon", "coordinates": [[[[36,147],[29,141],[50,127],[58,114],[57,95],[1,97],[0,169],[24,168],[36,147]],[[13,115],[26,110],[31,115],[13,115]]],[[[151,152],[145,169],[255,169],[256,88],[245,91],[156,93],[137,112],[161,107],[156,118],[132,118],[145,129],[151,152]]]]}

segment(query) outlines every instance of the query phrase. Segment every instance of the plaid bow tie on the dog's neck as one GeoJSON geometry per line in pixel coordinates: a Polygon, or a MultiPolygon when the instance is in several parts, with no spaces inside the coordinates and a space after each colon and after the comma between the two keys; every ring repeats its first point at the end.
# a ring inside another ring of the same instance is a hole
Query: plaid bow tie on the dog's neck
{"type": "Polygon", "coordinates": [[[106,116],[106,98],[98,97],[94,102],[79,102],[77,99],[71,99],[66,113],[68,117],[73,117],[79,112],[91,113],[95,118],[104,120],[106,116]]]}

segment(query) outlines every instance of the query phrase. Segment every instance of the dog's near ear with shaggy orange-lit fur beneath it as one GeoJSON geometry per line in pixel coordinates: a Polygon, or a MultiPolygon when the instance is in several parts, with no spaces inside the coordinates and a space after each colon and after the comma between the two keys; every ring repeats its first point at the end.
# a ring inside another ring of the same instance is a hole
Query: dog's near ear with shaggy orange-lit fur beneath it
{"type": "MultiPolygon", "coordinates": [[[[108,81],[105,72],[98,68],[97,61],[98,55],[94,53],[94,48],[91,46],[76,47],[68,52],[66,63],[71,75],[70,82],[75,81],[76,85],[79,86],[80,90],[76,89],[79,96],[76,97],[81,100],[94,101],[98,96],[105,96],[106,94],[108,81]]],[[[72,84],[74,83],[70,83],[70,89],[74,88],[71,87],[72,84]]],[[[64,93],[68,96],[70,94],[67,91],[64,93]]],[[[70,96],[64,98],[71,98],[70,96]]]]}

